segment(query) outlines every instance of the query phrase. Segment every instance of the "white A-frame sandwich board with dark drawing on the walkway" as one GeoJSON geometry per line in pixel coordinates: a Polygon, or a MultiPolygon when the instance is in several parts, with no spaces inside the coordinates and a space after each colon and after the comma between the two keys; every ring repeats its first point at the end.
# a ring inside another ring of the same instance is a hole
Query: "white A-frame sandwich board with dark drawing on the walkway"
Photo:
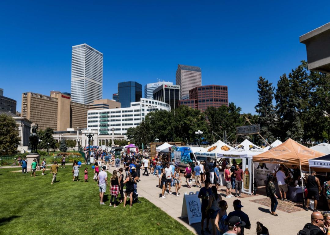
{"type": "Polygon", "coordinates": [[[185,217],[188,217],[189,225],[202,220],[201,200],[198,198],[198,192],[184,193],[181,218],[185,217]]]}

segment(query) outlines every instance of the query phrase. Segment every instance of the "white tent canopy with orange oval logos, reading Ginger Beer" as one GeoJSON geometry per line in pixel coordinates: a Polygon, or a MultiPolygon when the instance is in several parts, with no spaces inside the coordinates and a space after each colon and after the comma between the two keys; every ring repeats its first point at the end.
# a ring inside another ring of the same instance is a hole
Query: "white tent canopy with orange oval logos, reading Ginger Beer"
{"type": "Polygon", "coordinates": [[[205,151],[196,152],[195,155],[196,155],[197,161],[205,161],[206,158],[213,158],[214,161],[219,163],[219,165],[220,165],[221,158],[219,158],[217,156],[217,154],[218,153],[224,154],[228,150],[231,150],[231,149],[233,149],[233,147],[229,146],[228,144],[225,144],[221,140],[218,140],[213,145],[205,148],[205,151]]]}

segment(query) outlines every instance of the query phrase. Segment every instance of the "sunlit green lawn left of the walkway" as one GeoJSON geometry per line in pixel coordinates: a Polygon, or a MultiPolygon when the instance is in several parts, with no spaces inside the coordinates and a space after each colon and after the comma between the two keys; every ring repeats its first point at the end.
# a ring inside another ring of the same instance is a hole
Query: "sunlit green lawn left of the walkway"
{"type": "Polygon", "coordinates": [[[109,207],[107,188],[107,205],[100,205],[92,169],[85,183],[84,167],[79,182],[72,182],[71,164],[59,168],[54,185],[49,170],[34,178],[0,168],[0,234],[192,234],[144,198],[132,208],[109,207]]]}

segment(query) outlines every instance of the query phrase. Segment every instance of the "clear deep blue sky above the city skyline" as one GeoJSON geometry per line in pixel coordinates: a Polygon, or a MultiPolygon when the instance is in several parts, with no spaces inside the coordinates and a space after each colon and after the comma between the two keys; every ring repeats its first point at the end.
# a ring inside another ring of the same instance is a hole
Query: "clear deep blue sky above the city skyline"
{"type": "Polygon", "coordinates": [[[327,23],[326,1],[6,1],[0,3],[0,88],[70,92],[71,47],[101,51],[103,98],[121,81],[175,83],[178,64],[202,85],[227,85],[229,102],[255,112],[257,79],[276,86],[306,60],[299,36],[327,23]]]}

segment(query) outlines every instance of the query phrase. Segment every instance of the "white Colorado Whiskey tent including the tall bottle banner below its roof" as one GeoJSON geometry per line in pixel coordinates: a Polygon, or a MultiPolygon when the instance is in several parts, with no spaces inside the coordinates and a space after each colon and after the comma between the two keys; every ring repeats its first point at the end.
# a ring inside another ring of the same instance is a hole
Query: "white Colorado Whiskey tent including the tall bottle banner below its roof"
{"type": "MultiPolygon", "coordinates": [[[[218,153],[219,158],[242,159],[243,184],[242,192],[252,194],[252,156],[263,153],[266,149],[260,148],[251,143],[247,139],[244,140],[237,147],[226,151],[225,153],[218,153]]],[[[224,181],[223,181],[224,182],[224,181]]]]}

